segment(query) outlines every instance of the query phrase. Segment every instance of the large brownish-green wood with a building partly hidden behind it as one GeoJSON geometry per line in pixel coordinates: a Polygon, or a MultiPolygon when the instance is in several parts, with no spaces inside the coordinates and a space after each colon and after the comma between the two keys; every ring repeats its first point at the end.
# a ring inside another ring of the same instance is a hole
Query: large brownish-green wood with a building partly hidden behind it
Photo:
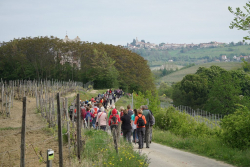
{"type": "Polygon", "coordinates": [[[131,92],[155,89],[147,61],[122,46],[27,37],[4,42],[0,60],[4,80],[93,81],[95,88],[120,87],[131,92]]]}

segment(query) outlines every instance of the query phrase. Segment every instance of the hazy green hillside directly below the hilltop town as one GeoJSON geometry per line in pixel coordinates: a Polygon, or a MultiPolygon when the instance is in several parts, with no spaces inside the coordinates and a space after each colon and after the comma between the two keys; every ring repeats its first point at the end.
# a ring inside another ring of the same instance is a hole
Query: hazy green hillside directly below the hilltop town
{"type": "Polygon", "coordinates": [[[188,65],[191,63],[202,64],[208,62],[214,62],[220,60],[221,55],[226,55],[230,61],[236,61],[234,56],[250,55],[249,45],[225,45],[214,48],[182,48],[182,49],[168,49],[168,50],[156,50],[156,49],[138,49],[133,50],[146,60],[150,67],[156,67],[164,65],[169,60],[173,60],[176,65],[188,65]]]}

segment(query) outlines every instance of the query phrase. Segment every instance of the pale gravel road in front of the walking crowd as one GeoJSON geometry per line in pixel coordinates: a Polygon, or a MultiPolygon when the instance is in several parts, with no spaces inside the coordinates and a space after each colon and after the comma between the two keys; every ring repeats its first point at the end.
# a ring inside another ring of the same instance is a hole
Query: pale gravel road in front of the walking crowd
{"type": "MultiPolygon", "coordinates": [[[[138,144],[134,145],[134,148],[136,151],[139,150],[138,144]]],[[[150,167],[233,167],[221,161],[184,152],[157,143],[151,143],[150,148],[143,148],[140,151],[148,155],[150,167]]]]}

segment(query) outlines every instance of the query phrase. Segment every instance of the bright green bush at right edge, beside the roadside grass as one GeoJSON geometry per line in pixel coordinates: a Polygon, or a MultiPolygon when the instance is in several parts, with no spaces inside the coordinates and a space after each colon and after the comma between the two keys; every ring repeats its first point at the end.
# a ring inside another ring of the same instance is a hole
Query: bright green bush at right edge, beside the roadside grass
{"type": "Polygon", "coordinates": [[[221,121],[223,140],[232,147],[246,149],[250,146],[250,111],[239,106],[235,113],[225,116],[221,121]]]}

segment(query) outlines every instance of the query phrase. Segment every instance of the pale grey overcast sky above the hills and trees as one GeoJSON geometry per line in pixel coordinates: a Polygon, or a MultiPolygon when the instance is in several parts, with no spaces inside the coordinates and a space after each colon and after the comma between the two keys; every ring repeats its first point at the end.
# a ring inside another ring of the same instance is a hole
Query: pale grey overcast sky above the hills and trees
{"type": "MultiPolygon", "coordinates": [[[[246,31],[229,29],[228,6],[247,0],[0,0],[0,42],[67,34],[81,41],[126,45],[146,42],[238,42],[246,31]]],[[[243,8],[242,8],[243,9],[243,8]]]]}

